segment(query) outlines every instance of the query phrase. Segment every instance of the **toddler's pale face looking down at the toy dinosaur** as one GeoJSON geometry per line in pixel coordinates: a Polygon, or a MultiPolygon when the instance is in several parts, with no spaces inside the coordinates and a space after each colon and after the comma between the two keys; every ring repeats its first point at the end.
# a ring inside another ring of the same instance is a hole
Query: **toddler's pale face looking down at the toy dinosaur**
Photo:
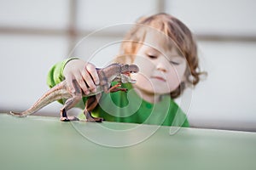
{"type": "Polygon", "coordinates": [[[170,94],[183,81],[186,59],[177,48],[163,48],[157,37],[147,36],[146,40],[153,46],[142,45],[137,51],[134,64],[138,65],[140,72],[132,76],[137,80],[135,87],[142,94],[170,94]]]}

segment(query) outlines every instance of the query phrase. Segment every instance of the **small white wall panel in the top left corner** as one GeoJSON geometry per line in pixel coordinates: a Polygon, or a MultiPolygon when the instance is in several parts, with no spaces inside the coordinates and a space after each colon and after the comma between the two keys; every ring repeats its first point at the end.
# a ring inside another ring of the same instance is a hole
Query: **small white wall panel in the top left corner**
{"type": "Polygon", "coordinates": [[[0,4],[1,26],[48,29],[68,24],[67,0],[1,0],[0,4]]]}

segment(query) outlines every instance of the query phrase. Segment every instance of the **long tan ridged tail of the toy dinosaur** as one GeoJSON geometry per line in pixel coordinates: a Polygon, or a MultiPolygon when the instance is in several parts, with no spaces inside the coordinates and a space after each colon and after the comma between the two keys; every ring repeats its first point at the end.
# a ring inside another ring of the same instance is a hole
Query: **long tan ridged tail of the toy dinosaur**
{"type": "Polygon", "coordinates": [[[49,105],[50,103],[59,100],[59,99],[67,99],[67,95],[70,95],[67,93],[67,90],[62,88],[63,83],[57,84],[55,87],[50,88],[49,91],[47,91],[41,98],[38,99],[38,101],[32,105],[31,108],[27,109],[26,111],[22,112],[15,112],[10,111],[9,113],[13,116],[28,116],[36,111],[39,111],[44,106],[49,105]]]}

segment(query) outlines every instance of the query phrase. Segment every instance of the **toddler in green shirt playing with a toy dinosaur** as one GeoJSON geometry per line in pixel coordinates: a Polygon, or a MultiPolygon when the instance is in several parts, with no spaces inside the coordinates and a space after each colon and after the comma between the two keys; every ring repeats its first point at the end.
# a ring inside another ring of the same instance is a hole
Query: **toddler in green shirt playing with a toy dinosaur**
{"type": "MultiPolygon", "coordinates": [[[[131,75],[137,82],[122,85],[127,93],[102,94],[93,116],[109,122],[189,127],[187,116],[173,100],[184,88],[200,82],[196,42],[187,26],[170,14],[141,18],[126,34],[114,62],[137,65],[139,73],[131,75]]],[[[63,79],[73,92],[76,80],[84,94],[94,92],[99,84],[96,66],[78,58],[51,68],[49,87],[63,79]]],[[[78,107],[84,109],[85,101],[78,107]]]]}

